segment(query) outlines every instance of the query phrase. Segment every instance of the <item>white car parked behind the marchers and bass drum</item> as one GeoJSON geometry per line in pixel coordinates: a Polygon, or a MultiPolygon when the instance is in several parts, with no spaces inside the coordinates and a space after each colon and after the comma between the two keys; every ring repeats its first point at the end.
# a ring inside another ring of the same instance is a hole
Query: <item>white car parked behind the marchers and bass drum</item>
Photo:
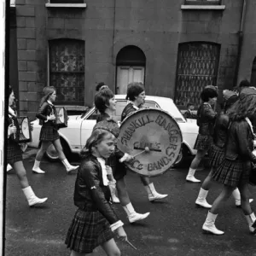
{"type": "MultiPolygon", "coordinates": [[[[125,95],[116,95],[115,99],[117,101],[115,119],[120,120],[121,113],[129,101],[125,100],[125,95]]],[[[170,113],[170,115],[177,121],[183,134],[183,145],[181,153],[174,166],[180,166],[187,156],[196,154],[194,145],[198,134],[198,126],[194,122],[191,123],[183,117],[183,114],[177,109],[171,98],[146,96],[145,101],[144,105],[146,107],[161,108],[170,113]]],[[[67,156],[70,153],[79,153],[84,147],[86,140],[90,137],[94,125],[96,125],[96,117],[97,113],[95,108],[90,108],[89,111],[81,115],[69,116],[68,127],[59,130],[61,145],[67,156]]],[[[39,125],[38,119],[32,121],[32,124],[34,129],[32,131],[32,143],[29,143],[29,147],[39,148],[41,125],[39,125]]],[[[47,149],[46,156],[49,160],[58,159],[58,155],[52,145],[47,149]]]]}

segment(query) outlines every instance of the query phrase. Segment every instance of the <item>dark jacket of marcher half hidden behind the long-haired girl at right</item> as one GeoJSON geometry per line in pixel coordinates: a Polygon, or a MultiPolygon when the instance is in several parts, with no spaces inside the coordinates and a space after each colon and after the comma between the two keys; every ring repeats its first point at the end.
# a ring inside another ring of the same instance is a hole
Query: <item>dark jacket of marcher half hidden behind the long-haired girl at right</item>
{"type": "Polygon", "coordinates": [[[213,131],[213,143],[219,148],[224,148],[228,139],[229,116],[219,113],[216,118],[213,131]]]}

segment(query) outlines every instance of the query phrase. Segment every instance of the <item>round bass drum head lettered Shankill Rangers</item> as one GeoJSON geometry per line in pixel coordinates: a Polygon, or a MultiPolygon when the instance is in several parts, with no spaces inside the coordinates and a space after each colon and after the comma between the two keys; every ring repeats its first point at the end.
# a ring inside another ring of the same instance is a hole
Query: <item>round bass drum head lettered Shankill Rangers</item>
{"type": "Polygon", "coordinates": [[[144,176],[166,172],[177,160],[183,142],[175,119],[159,108],[138,110],[120,126],[118,148],[134,155],[128,168],[144,176]]]}

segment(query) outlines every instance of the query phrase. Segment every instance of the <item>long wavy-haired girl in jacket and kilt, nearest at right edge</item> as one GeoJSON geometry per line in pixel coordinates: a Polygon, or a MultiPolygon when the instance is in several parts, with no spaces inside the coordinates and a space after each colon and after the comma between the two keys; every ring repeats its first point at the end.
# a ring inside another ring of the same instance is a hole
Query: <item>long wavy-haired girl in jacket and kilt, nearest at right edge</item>
{"type": "Polygon", "coordinates": [[[230,128],[225,147],[225,157],[212,178],[223,184],[218,198],[213,202],[212,209],[202,230],[214,235],[224,232],[215,227],[215,219],[222,204],[227,201],[233,190],[238,188],[241,193],[241,209],[247,218],[250,232],[255,232],[252,224],[256,218],[247,199],[247,185],[252,171],[252,162],[256,163],[253,151],[253,126],[249,118],[255,113],[256,90],[247,88],[240,93],[239,100],[228,111],[230,128]]]}

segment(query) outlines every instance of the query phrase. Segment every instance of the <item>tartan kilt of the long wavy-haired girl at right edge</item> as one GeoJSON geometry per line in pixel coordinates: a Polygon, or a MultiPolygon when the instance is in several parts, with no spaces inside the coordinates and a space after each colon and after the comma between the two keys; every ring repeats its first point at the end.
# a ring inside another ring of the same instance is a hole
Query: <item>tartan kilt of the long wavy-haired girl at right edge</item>
{"type": "Polygon", "coordinates": [[[237,187],[239,184],[249,183],[251,169],[250,161],[224,159],[216,172],[212,173],[212,178],[224,185],[237,187]]]}

